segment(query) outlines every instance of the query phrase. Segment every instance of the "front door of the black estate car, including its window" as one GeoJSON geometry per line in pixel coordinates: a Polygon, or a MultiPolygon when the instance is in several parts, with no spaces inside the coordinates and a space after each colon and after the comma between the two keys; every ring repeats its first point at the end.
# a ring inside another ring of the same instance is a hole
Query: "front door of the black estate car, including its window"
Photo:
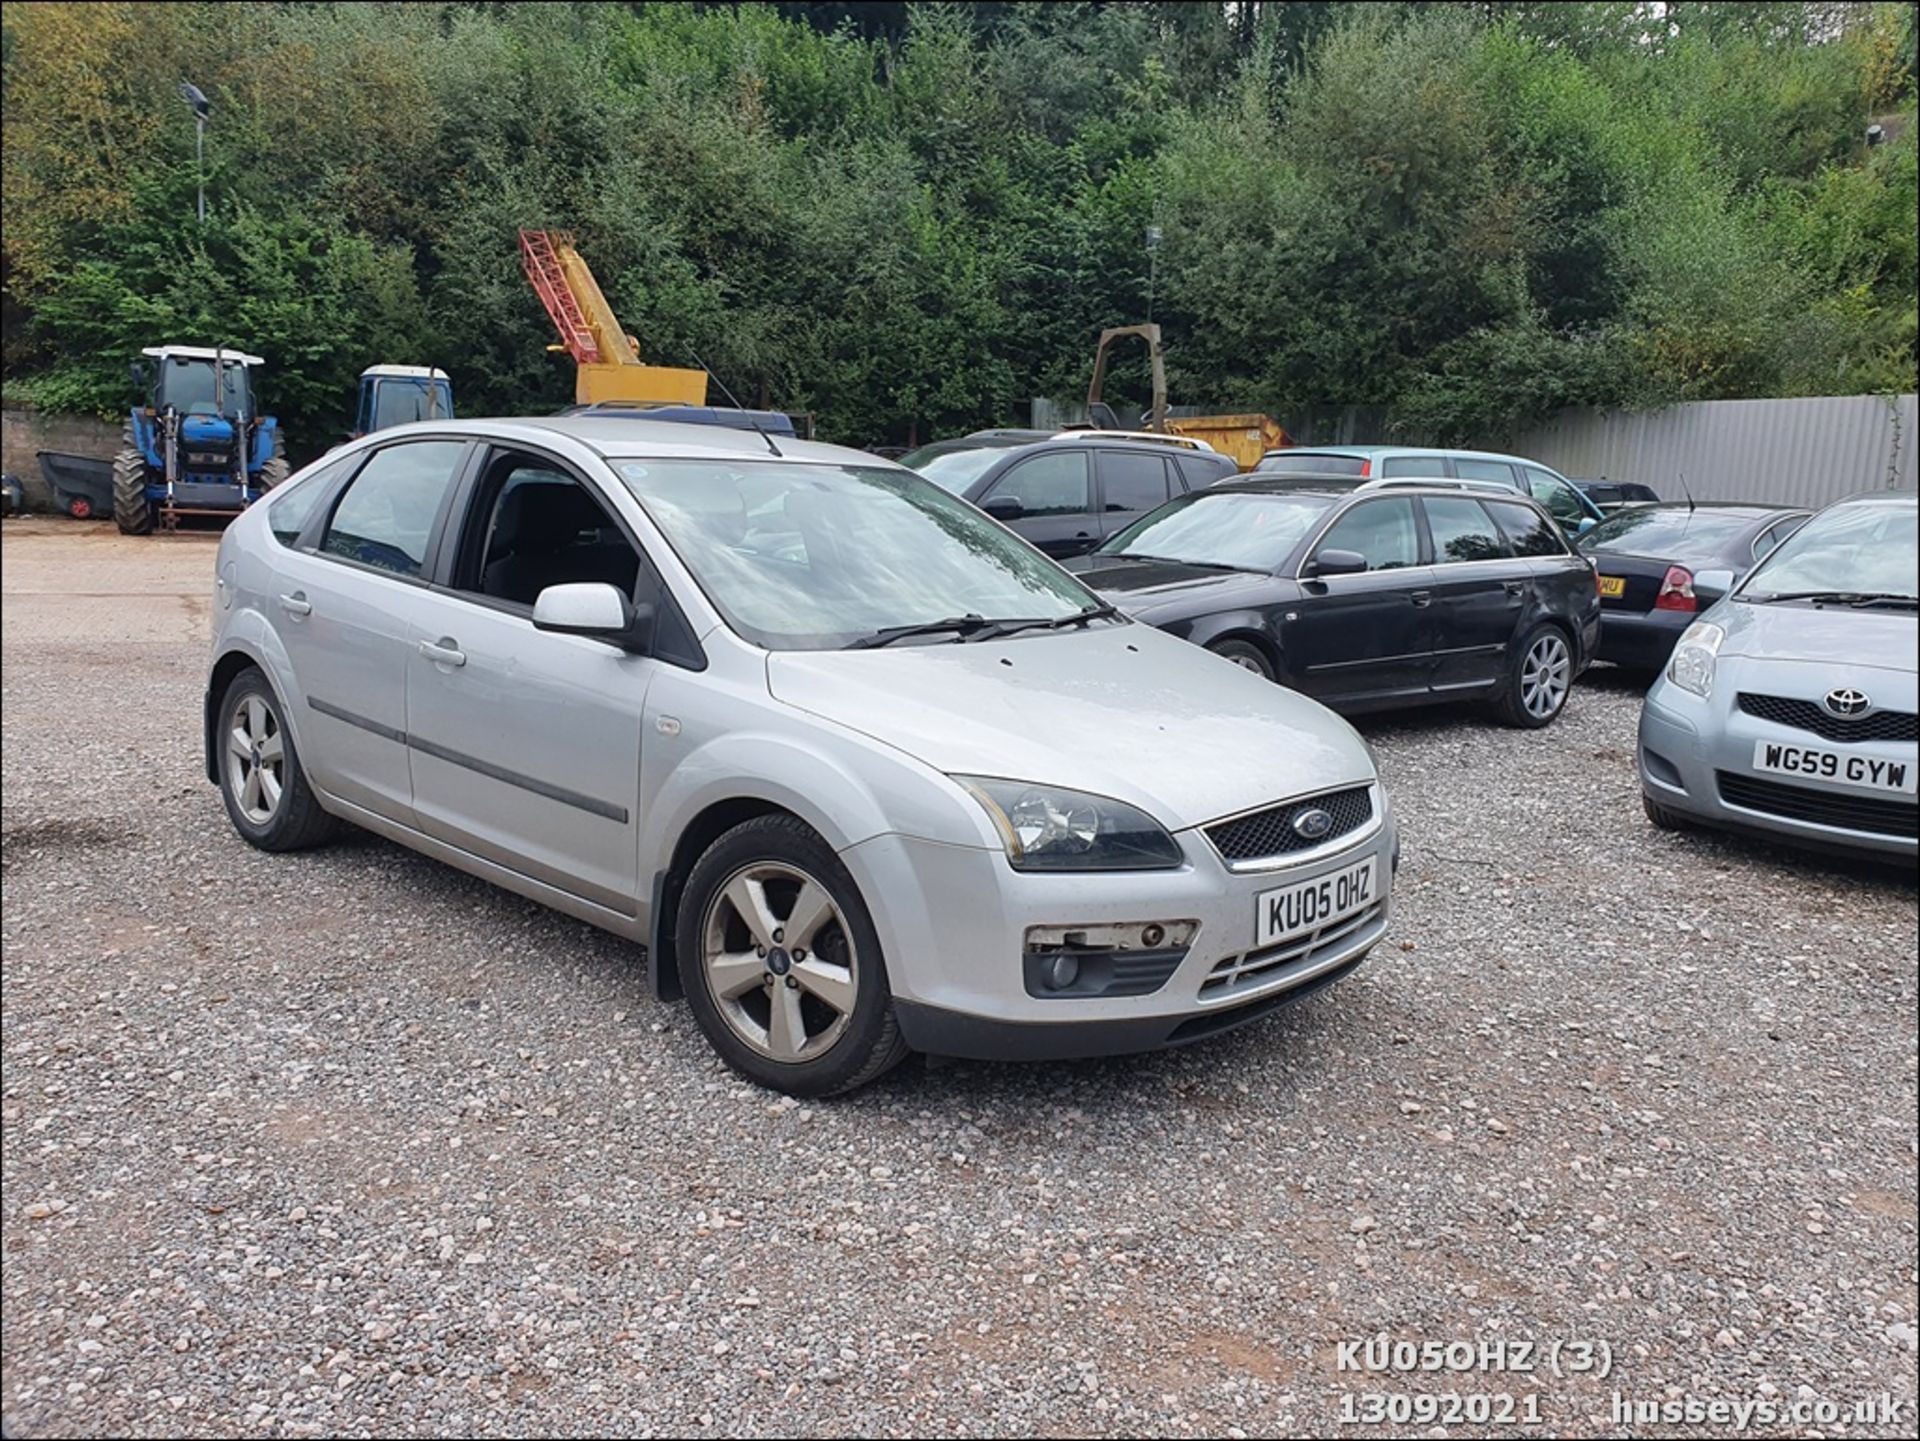
{"type": "Polygon", "coordinates": [[[1281,612],[1281,649],[1298,689],[1344,706],[1425,697],[1432,670],[1432,579],[1413,499],[1361,501],[1340,514],[1302,568],[1302,597],[1281,612]],[[1323,551],[1356,551],[1367,570],[1311,574],[1323,551]]]}

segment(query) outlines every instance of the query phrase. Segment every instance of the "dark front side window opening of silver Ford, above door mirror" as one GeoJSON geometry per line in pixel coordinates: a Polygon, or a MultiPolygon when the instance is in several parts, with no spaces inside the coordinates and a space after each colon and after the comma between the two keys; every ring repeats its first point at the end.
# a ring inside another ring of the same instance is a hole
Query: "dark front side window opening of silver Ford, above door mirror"
{"type": "Polygon", "coordinates": [[[605,581],[632,599],[639,553],[605,503],[538,455],[493,459],[476,495],[486,512],[476,574],[461,589],[532,606],[549,585],[605,581]]]}

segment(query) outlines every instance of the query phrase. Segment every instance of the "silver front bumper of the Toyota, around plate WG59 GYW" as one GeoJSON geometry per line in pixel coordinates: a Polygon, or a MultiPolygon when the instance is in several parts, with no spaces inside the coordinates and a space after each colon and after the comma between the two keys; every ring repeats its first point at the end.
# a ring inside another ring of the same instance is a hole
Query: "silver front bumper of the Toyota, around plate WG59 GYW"
{"type": "MultiPolygon", "coordinates": [[[[1814,808],[1812,802],[1830,796],[1860,798],[1868,794],[1857,789],[1818,787],[1795,777],[1757,771],[1753,768],[1753,746],[1757,741],[1776,741],[1816,750],[1841,750],[1907,766],[1920,766],[1920,748],[1910,741],[1839,744],[1811,731],[1749,716],[1734,706],[1736,687],[1728,681],[1730,677],[1722,675],[1715,683],[1713,697],[1707,700],[1682,691],[1667,677],[1655,681],[1647,693],[1647,702],[1640,712],[1638,754],[1640,787],[1649,800],[1707,825],[1763,835],[1789,844],[1820,850],[1841,848],[1908,860],[1920,854],[1920,840],[1914,839],[1912,819],[1907,821],[1905,835],[1887,835],[1855,825],[1820,823],[1803,815],[1782,814],[1782,810],[1763,810],[1757,804],[1730,802],[1722,789],[1722,775],[1734,777],[1736,785],[1761,781],[1766,787],[1778,787],[1780,794],[1793,800],[1805,796],[1811,802],[1809,810],[1814,808]]],[[[1807,687],[1786,675],[1761,679],[1743,673],[1740,689],[1755,689],[1766,695],[1797,695],[1807,687]]],[[[1885,800],[1893,804],[1905,802],[1908,812],[1914,812],[1912,796],[1889,794],[1885,800]]]]}

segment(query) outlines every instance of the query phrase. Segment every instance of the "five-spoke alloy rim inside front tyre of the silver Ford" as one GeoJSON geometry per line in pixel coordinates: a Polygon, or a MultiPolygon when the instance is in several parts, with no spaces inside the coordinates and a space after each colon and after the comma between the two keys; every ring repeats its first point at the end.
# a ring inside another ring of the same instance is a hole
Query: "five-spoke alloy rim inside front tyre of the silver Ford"
{"type": "Polygon", "coordinates": [[[839,906],[785,862],[735,871],[707,904],[701,973],[728,1028],[783,1063],[829,1051],[860,996],[860,965],[839,906]]]}

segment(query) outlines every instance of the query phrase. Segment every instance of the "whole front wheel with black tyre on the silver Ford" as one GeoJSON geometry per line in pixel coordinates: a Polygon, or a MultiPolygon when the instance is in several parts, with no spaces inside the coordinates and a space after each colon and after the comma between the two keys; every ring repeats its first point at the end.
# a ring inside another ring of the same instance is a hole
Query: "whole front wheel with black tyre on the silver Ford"
{"type": "Polygon", "coordinates": [[[707,848],[676,934],[693,1019],[749,1080],[835,1096],[906,1055],[860,888],[793,815],[758,815],[707,848]]]}

